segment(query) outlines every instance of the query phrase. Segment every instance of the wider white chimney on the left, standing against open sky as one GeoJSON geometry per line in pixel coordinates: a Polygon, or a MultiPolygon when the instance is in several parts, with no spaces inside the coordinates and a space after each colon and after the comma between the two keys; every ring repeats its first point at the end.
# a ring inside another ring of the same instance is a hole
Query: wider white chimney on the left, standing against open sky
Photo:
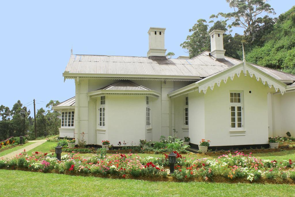
{"type": "Polygon", "coordinates": [[[166,28],[150,27],[148,30],[148,57],[164,56],[165,49],[165,30],[166,28]]]}

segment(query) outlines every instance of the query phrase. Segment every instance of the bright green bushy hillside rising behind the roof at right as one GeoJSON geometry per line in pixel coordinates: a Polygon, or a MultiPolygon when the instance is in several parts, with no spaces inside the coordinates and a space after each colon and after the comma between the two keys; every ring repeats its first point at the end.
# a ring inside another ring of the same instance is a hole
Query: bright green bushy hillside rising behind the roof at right
{"type": "Polygon", "coordinates": [[[264,43],[246,54],[246,61],[295,74],[295,6],[278,17],[264,43]]]}

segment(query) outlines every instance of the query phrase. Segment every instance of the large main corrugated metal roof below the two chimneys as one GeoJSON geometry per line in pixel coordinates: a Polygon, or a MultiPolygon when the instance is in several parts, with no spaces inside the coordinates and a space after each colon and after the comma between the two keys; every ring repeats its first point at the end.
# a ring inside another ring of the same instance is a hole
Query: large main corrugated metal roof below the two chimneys
{"type": "MultiPolygon", "coordinates": [[[[148,57],[134,56],[97,56],[71,55],[65,72],[70,74],[125,74],[155,76],[192,76],[207,77],[230,66],[239,64],[240,60],[225,57],[226,61],[215,61],[208,51],[191,59],[153,60],[148,57]]],[[[295,75],[254,65],[278,80],[293,80],[295,75]]]]}

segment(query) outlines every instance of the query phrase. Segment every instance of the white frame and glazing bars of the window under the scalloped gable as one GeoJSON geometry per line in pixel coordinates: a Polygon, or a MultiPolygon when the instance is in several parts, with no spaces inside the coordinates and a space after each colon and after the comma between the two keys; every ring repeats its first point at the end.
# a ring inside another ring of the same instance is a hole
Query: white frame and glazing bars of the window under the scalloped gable
{"type": "Polygon", "coordinates": [[[242,91],[230,91],[230,130],[244,130],[244,94],[242,91]],[[233,94],[233,97],[232,97],[233,94]],[[235,94],[240,94],[240,102],[238,102],[238,96],[235,97],[235,94]],[[235,102],[236,101],[236,102],[235,102]],[[238,108],[240,107],[240,111],[238,108]],[[238,116],[240,112],[240,116],[238,116]],[[233,119],[234,118],[234,119],[233,119]],[[240,121],[239,121],[240,118],[240,121]],[[233,127],[233,123],[235,127],[233,127]],[[239,127],[240,124],[240,127],[239,127]]]}

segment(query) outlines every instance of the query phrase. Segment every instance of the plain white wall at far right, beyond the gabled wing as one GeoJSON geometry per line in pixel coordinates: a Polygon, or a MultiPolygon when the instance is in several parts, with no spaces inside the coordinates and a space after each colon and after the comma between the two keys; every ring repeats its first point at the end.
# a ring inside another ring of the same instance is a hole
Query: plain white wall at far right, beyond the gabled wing
{"type": "Polygon", "coordinates": [[[273,136],[286,136],[288,131],[295,136],[295,92],[271,95],[271,101],[273,136]]]}

